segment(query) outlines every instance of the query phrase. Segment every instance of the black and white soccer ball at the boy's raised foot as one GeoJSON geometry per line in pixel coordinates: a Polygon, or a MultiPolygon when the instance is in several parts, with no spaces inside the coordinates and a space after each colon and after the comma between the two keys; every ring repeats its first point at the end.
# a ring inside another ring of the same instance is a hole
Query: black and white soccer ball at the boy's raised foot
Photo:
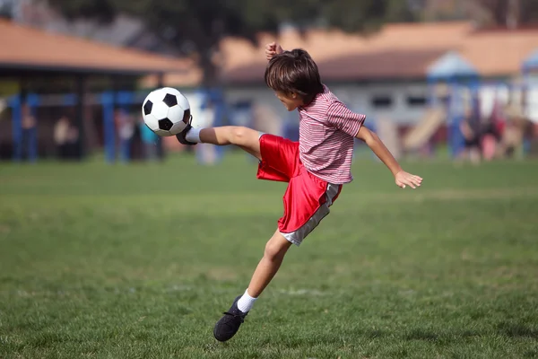
{"type": "Polygon", "coordinates": [[[159,136],[178,135],[187,127],[190,116],[187,97],[171,87],[152,91],[143,101],[143,122],[159,136]]]}

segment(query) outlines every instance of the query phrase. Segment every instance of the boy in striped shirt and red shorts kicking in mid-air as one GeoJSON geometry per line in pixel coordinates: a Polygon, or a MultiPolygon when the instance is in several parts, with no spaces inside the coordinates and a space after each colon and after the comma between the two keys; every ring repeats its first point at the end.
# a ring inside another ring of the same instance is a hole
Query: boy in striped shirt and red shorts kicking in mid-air
{"type": "Polygon", "coordinates": [[[291,244],[299,244],[329,214],[329,207],[351,177],[355,138],[366,142],[386,164],[401,188],[417,188],[422,179],[402,170],[379,138],[362,126],[364,115],[347,109],[321,82],[316,63],[302,49],[283,51],[267,45],[265,83],[289,111],[299,110],[299,142],[259,133],[247,127],[193,128],[177,135],[181,144],[236,144],[259,160],[260,180],[289,182],[283,197],[284,214],[265,245],[247,290],[224,312],[214,337],[233,337],[258,296],[271,282],[291,244]]]}

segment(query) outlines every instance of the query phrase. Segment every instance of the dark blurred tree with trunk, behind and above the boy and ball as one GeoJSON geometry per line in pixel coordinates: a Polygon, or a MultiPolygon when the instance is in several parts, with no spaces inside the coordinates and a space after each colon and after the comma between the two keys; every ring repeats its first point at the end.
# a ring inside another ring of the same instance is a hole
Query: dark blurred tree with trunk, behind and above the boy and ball
{"type": "Polygon", "coordinates": [[[48,3],[68,19],[109,22],[118,13],[139,17],[148,31],[181,54],[197,58],[206,85],[218,80],[214,60],[220,52],[221,39],[226,36],[256,43],[257,32],[275,32],[282,22],[299,27],[325,23],[344,31],[375,31],[387,16],[405,13],[402,0],[48,0],[48,3]]]}

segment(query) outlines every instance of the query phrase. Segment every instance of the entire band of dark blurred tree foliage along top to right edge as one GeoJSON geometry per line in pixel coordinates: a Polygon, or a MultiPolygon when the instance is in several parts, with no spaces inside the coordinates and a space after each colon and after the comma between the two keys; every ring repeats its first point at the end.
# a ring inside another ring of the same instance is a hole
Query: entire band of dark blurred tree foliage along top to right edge
{"type": "MultiPolygon", "coordinates": [[[[41,0],[47,1],[47,0],[41,0]]],[[[368,33],[385,22],[475,20],[485,26],[514,27],[538,19],[536,0],[48,0],[69,19],[109,22],[118,13],[140,18],[148,31],[184,55],[195,55],[204,82],[216,76],[214,55],[221,39],[256,41],[259,31],[282,23],[300,28],[322,25],[368,33]]]]}

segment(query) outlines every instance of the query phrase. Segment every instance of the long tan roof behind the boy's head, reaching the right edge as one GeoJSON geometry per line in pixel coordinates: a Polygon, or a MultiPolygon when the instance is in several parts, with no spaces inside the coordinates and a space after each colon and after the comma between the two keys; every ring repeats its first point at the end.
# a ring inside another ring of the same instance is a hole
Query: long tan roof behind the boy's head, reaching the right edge
{"type": "MultiPolygon", "coordinates": [[[[369,36],[336,30],[311,30],[304,36],[288,29],[276,38],[261,33],[253,46],[246,39],[221,42],[221,78],[229,84],[263,83],[265,48],[276,40],[282,48],[304,48],[317,62],[324,81],[426,79],[430,66],[455,51],[461,63],[484,77],[519,74],[525,58],[538,48],[538,29],[477,31],[471,22],[388,24],[369,36]]],[[[192,78],[190,80],[193,80],[192,78]]],[[[169,74],[165,83],[181,85],[169,74]]]]}

